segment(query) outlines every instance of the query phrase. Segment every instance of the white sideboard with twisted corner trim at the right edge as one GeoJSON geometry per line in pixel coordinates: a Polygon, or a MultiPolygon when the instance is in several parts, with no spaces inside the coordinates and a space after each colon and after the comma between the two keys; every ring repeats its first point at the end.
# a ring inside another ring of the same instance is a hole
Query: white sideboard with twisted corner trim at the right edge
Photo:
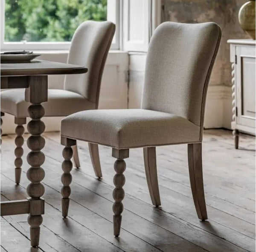
{"type": "Polygon", "coordinates": [[[231,128],[238,149],[239,131],[255,135],[255,40],[228,40],[232,63],[231,128]]]}

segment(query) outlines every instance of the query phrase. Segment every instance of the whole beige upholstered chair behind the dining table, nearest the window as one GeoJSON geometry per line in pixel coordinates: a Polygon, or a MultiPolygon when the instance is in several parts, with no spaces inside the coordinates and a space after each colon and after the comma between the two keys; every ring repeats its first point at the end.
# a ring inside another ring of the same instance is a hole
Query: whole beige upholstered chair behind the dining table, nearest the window
{"type": "MultiPolygon", "coordinates": [[[[115,33],[115,25],[109,21],[85,21],[73,35],[67,63],[87,66],[86,74],[66,75],[64,90],[48,89],[48,101],[43,103],[45,116],[67,116],[87,109],[98,109],[102,73],[109,48],[115,33]]],[[[20,183],[23,155],[23,124],[28,116],[29,104],[25,102],[24,89],[5,90],[1,95],[1,116],[8,113],[15,116],[15,181],[20,183]]],[[[2,120],[2,118],[1,118],[2,120]]],[[[79,167],[77,146],[73,146],[75,166],[79,167]]],[[[101,177],[98,146],[89,143],[93,168],[101,177]]]]}

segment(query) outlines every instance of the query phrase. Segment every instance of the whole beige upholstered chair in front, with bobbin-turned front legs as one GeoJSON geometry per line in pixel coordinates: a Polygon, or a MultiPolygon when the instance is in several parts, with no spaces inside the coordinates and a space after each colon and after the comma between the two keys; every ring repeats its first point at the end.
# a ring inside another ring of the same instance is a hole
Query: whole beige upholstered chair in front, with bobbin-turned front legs
{"type": "Polygon", "coordinates": [[[62,215],[67,216],[76,140],[111,146],[116,158],[113,183],[114,235],[120,233],[125,192],[125,158],[144,148],[145,172],[153,205],[159,206],[155,146],[188,144],[189,176],[198,218],[207,219],[202,174],[202,132],[207,86],[221,40],[215,23],[166,22],[155,30],[146,61],[141,109],[89,110],[61,121],[64,162],[62,215]]]}

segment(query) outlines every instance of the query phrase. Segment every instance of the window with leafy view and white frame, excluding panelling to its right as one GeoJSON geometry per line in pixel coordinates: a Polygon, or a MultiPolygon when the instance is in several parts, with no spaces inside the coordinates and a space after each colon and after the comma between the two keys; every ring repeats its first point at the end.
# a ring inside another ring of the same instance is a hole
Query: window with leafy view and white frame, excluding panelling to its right
{"type": "MultiPolygon", "coordinates": [[[[84,20],[111,20],[118,26],[118,2],[1,0],[1,49],[69,49],[74,31],[84,20]]],[[[115,35],[113,49],[119,48],[118,42],[115,35]]]]}

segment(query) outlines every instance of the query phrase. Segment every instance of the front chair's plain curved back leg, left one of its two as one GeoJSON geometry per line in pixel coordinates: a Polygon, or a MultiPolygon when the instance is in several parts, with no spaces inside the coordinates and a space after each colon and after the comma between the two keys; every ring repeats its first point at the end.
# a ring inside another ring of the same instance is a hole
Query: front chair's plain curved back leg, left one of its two
{"type": "Polygon", "coordinates": [[[148,183],[148,190],[154,206],[160,206],[161,200],[159,195],[157,180],[157,159],[156,147],[143,148],[145,173],[148,183]]]}

